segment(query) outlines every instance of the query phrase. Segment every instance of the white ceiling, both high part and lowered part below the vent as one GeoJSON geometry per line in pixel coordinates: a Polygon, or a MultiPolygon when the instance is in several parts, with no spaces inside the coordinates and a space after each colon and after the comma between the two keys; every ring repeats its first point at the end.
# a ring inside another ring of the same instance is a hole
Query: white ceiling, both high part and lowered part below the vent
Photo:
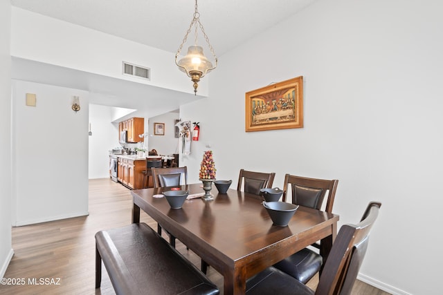
{"type": "MultiPolygon", "coordinates": [[[[204,25],[210,44],[215,54],[220,57],[266,28],[296,14],[314,1],[316,0],[200,0],[198,9],[200,21],[204,25]]],[[[12,6],[170,53],[177,52],[195,10],[194,0],[11,0],[10,2],[12,6]]],[[[149,104],[151,108],[149,117],[168,110],[172,111],[183,103],[201,98],[198,95],[195,97],[181,93],[181,99],[174,100],[171,97],[177,95],[171,95],[173,91],[168,89],[21,59],[12,60],[12,76],[17,79],[90,91],[92,93],[90,102],[94,104],[141,109],[147,106],[149,99],[146,97],[150,97],[156,99],[156,110],[152,109],[152,103],[149,104]],[[122,89],[125,89],[125,93],[122,93],[122,89]],[[121,98],[122,94],[125,99],[121,98]]]]}

